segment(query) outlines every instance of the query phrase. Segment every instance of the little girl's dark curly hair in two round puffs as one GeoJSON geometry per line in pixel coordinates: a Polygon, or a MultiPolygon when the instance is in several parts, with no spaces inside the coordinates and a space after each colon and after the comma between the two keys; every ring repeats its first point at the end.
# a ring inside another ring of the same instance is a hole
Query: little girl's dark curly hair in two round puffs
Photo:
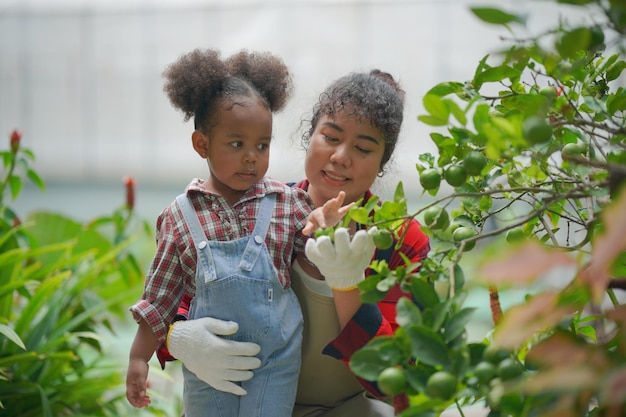
{"type": "Polygon", "coordinates": [[[210,126],[213,110],[222,100],[260,97],[271,112],[280,111],[293,92],[284,62],[269,52],[242,50],[229,58],[219,51],[195,49],[170,64],[163,90],[174,107],[194,118],[196,129],[210,126]]]}

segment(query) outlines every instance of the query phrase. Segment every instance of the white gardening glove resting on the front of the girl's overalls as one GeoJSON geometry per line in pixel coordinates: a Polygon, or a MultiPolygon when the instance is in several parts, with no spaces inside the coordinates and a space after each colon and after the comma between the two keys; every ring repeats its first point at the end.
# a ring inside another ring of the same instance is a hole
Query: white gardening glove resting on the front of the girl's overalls
{"type": "Polygon", "coordinates": [[[261,347],[220,337],[235,334],[237,330],[237,323],[213,317],[177,321],[167,335],[167,348],[172,356],[213,388],[245,395],[246,390],[233,381],[252,378],[252,370],[261,366],[261,361],[255,357],[261,347]]]}

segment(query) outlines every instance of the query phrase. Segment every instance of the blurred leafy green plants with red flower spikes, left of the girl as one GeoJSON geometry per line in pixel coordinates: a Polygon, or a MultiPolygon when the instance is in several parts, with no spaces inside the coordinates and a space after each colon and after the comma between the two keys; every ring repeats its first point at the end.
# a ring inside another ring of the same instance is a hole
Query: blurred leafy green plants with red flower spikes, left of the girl
{"type": "Polygon", "coordinates": [[[113,215],[87,224],[49,212],[20,218],[4,197],[18,197],[21,175],[45,189],[21,139],[14,131],[0,152],[0,415],[128,414],[126,364],[105,342],[143,284],[132,244],[153,236],[133,212],[134,184],[125,179],[126,202],[113,215]]]}

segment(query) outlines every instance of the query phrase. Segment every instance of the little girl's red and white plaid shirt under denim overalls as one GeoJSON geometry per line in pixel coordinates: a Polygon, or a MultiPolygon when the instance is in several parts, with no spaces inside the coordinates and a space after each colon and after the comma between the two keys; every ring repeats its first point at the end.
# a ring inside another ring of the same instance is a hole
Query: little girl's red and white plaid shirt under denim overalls
{"type": "MultiPolygon", "coordinates": [[[[265,244],[281,283],[289,286],[291,262],[296,255],[304,254],[307,237],[302,234],[302,229],[315,207],[306,192],[266,177],[246,191],[233,206],[207,191],[199,179],[187,186],[186,193],[208,240],[212,241],[249,236],[254,230],[261,198],[276,193],[265,244]]],[[[156,254],[148,271],[144,293],[130,310],[135,320],[143,318],[162,342],[183,295],[193,298],[196,290],[196,248],[175,201],[159,215],[156,238],[156,254]]]]}

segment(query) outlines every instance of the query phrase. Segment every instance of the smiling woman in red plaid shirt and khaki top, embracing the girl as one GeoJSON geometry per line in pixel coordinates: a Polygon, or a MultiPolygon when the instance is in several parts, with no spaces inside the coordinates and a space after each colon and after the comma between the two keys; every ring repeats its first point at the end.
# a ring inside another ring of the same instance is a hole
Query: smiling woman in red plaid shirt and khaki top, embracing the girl
{"type": "MultiPolygon", "coordinates": [[[[348,74],[333,82],[314,106],[303,138],[306,179],[293,186],[306,190],[316,207],[339,191],[345,192],[346,204],[361,198],[367,201],[372,195],[369,188],[382,175],[395,149],[403,101],[404,91],[393,77],[378,70],[348,74]]],[[[405,228],[399,249],[393,245],[377,250],[374,258],[387,260],[391,268],[404,265],[400,253],[413,262],[423,259],[430,250],[427,236],[415,220],[408,221],[405,228]]],[[[373,337],[393,334],[395,305],[400,297],[409,295],[394,288],[382,302],[363,304],[357,289],[330,289],[314,265],[300,261],[292,266],[292,285],[304,316],[293,416],[393,416],[393,407],[374,398],[382,397],[375,382],[357,378],[347,363],[373,337]]],[[[182,319],[185,310],[186,306],[181,306],[182,319]]],[[[258,346],[220,337],[235,333],[236,323],[202,320],[172,325],[168,336],[171,354],[201,379],[202,375],[210,378],[215,388],[240,392],[233,382],[252,377],[259,366],[255,357],[258,346]],[[204,346],[200,356],[199,344],[204,346]]],[[[161,351],[159,358],[163,364],[172,356],[161,351]]]]}

